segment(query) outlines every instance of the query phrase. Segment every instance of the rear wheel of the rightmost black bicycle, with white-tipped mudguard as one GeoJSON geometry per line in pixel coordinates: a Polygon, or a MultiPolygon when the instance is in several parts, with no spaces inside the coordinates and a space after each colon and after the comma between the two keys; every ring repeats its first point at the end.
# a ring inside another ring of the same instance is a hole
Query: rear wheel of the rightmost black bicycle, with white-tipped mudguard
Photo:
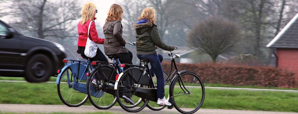
{"type": "MultiPolygon", "coordinates": [[[[119,79],[116,90],[116,97],[117,102],[122,107],[122,109],[124,109],[127,112],[136,113],[143,110],[146,107],[148,100],[142,99],[134,95],[134,91],[136,90],[136,88],[144,86],[139,85],[139,87],[136,87],[138,84],[135,83],[134,79],[128,72],[124,72],[124,74],[119,79]],[[131,102],[129,102],[129,100],[127,100],[126,98],[130,98],[130,100],[132,100],[135,104],[131,104],[131,102]]],[[[133,73],[136,72],[134,71],[133,73]]]]}

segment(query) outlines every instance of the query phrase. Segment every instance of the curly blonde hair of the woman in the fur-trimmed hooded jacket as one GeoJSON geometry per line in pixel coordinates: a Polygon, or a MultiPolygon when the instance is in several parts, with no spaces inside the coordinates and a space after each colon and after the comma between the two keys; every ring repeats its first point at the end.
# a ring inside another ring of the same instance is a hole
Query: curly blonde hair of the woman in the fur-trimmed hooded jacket
{"type": "Polygon", "coordinates": [[[146,7],[138,20],[146,19],[150,23],[155,24],[155,9],[153,7],[146,7]]]}

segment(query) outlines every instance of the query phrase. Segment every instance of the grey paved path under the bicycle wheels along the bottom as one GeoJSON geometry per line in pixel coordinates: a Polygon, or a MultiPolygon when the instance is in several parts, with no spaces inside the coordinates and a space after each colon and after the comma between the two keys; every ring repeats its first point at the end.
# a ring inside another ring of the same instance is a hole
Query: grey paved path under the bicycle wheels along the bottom
{"type": "MultiPolygon", "coordinates": [[[[0,104],[0,112],[7,113],[87,113],[87,112],[113,112],[128,113],[121,107],[114,106],[108,110],[99,110],[93,106],[67,107],[66,105],[36,105],[36,104],[0,104]]],[[[147,107],[140,111],[142,114],[179,114],[173,108],[163,109],[160,111],[152,111],[147,107]]],[[[200,109],[195,114],[298,114],[288,112],[268,112],[268,111],[248,111],[248,110],[221,110],[221,109],[200,109]]]]}

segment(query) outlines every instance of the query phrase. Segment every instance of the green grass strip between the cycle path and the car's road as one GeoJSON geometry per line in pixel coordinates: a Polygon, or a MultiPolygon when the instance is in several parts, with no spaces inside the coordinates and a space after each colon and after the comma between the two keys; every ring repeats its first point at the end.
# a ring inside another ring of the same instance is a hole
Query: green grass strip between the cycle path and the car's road
{"type": "MultiPolygon", "coordinates": [[[[0,104],[63,104],[55,83],[0,82],[0,86],[0,104]]],[[[84,105],[91,103],[88,100],[84,105]]],[[[202,108],[298,112],[297,106],[297,93],[206,89],[202,108]]]]}

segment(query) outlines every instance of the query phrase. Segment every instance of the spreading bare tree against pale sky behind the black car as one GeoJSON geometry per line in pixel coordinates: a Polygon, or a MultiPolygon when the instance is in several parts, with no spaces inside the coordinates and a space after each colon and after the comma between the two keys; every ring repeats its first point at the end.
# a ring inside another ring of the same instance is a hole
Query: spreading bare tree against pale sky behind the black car
{"type": "Polygon", "coordinates": [[[80,16],[80,4],[77,0],[13,0],[9,7],[17,22],[12,24],[36,34],[36,37],[44,39],[74,37],[73,21],[80,16]]]}

